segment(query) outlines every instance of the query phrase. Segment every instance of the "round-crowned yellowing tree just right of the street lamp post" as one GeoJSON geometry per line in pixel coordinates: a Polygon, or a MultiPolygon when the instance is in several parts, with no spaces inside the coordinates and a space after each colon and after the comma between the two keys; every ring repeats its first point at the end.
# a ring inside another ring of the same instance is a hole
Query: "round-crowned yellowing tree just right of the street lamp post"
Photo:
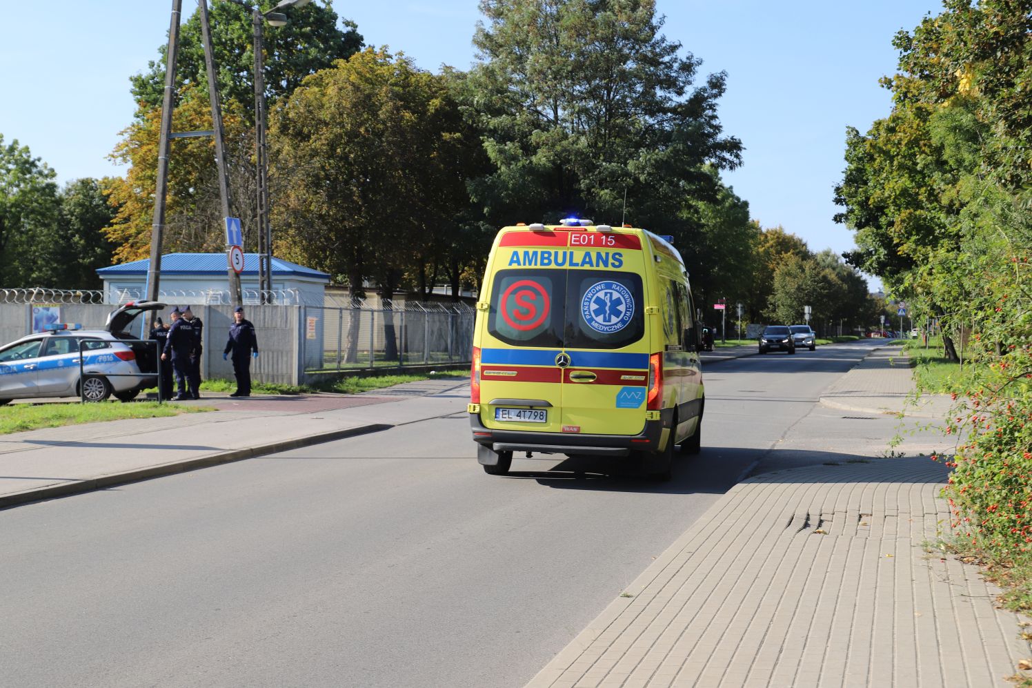
{"type": "Polygon", "coordinates": [[[386,299],[451,255],[479,142],[450,94],[447,77],[383,50],[307,79],[271,118],[272,169],[291,179],[273,209],[277,253],[345,278],[355,296],[372,278],[386,299]]]}

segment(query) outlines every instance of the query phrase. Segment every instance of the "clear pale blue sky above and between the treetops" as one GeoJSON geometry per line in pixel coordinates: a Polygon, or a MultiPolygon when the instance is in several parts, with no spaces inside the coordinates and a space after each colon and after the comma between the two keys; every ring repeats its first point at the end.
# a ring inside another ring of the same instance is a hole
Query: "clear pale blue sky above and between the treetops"
{"type": "MultiPolygon", "coordinates": [[[[402,51],[423,68],[464,69],[474,59],[476,0],[334,6],[367,43],[402,51]]],[[[184,0],[184,15],[195,7],[184,0]]],[[[29,146],[62,182],[123,174],[106,156],[132,119],[128,77],[157,58],[170,8],[168,0],[52,0],[11,9],[0,23],[4,140],[29,146]]],[[[724,179],[752,217],[812,250],[848,250],[851,233],[832,222],[845,127],[866,131],[889,113],[877,82],[896,69],[892,37],[939,13],[941,2],[657,0],[657,9],[664,33],[702,58],[704,73],[728,72],[720,119],[745,153],[724,179]]]]}

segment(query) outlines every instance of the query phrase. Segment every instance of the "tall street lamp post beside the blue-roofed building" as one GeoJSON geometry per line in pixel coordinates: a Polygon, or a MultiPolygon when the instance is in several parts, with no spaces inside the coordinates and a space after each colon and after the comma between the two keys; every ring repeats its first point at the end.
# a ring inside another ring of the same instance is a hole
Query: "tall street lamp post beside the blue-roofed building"
{"type": "Polygon", "coordinates": [[[262,12],[244,0],[232,0],[251,10],[251,27],[255,53],[255,163],[257,167],[256,220],[258,230],[258,290],[261,303],[267,304],[272,292],[272,226],[268,219],[268,154],[265,140],[267,114],[265,112],[265,67],[262,61],[264,33],[263,21],[271,26],[287,24],[287,15],[282,10],[303,7],[310,0],[283,0],[272,9],[262,12]]]}

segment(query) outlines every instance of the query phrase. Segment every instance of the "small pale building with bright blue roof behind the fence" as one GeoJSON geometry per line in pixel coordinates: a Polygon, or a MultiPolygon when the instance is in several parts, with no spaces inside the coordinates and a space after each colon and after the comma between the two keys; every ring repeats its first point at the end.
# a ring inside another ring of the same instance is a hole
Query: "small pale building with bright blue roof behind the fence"
{"type": "MultiPolygon", "coordinates": [[[[104,281],[104,301],[109,304],[143,299],[151,260],[133,260],[97,270],[104,281]]],[[[183,304],[231,304],[225,253],[168,253],[161,257],[161,300],[183,304]]],[[[272,291],[276,303],[322,306],[329,275],[312,268],[272,258],[272,291]]],[[[260,303],[258,254],[244,254],[240,273],[245,304],[260,303]]]]}

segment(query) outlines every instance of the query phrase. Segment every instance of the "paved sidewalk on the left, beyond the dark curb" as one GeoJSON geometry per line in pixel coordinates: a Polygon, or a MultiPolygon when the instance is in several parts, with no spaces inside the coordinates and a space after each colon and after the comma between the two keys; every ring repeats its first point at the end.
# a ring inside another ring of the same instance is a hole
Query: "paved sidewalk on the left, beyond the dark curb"
{"type": "Polygon", "coordinates": [[[465,380],[413,384],[407,393],[205,395],[183,403],[217,410],[0,435],[0,508],[465,411],[465,380]]]}

